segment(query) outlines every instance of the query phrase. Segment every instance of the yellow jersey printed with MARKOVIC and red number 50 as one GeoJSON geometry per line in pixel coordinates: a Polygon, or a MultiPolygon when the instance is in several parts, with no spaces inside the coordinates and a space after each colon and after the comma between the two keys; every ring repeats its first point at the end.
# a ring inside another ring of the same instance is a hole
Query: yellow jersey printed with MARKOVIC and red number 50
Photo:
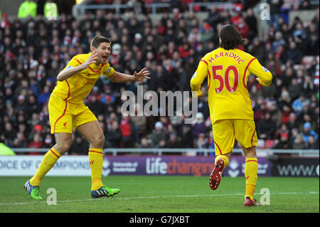
{"type": "Polygon", "coordinates": [[[247,90],[250,73],[259,78],[261,85],[270,86],[272,74],[249,53],[217,48],[201,58],[191,78],[191,90],[199,92],[208,76],[208,105],[213,124],[223,119],[253,120],[247,90]]]}

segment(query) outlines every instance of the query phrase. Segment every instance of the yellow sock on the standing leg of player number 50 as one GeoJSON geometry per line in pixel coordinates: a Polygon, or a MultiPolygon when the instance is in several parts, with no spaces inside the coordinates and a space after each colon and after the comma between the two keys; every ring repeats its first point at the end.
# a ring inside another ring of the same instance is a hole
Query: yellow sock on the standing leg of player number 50
{"type": "Polygon", "coordinates": [[[255,193],[255,185],[257,183],[257,158],[245,159],[245,197],[253,199],[255,193]]]}

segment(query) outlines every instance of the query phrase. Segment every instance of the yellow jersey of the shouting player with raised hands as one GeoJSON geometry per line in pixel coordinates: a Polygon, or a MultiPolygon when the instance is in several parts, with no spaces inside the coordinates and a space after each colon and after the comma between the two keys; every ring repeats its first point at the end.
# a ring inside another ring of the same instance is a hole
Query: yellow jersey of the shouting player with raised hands
{"type": "MultiPolygon", "coordinates": [[[[74,56],[63,70],[75,68],[76,66],[85,63],[90,55],[91,53],[86,53],[74,56]]],[[[89,95],[93,86],[97,82],[97,79],[100,78],[100,75],[110,76],[113,73],[114,69],[109,63],[100,65],[92,63],[88,68],[75,73],[75,75],[72,75],[70,78],[58,81],[53,93],[62,97],[65,101],[80,103],[83,102],[87,95],[89,95]]]]}

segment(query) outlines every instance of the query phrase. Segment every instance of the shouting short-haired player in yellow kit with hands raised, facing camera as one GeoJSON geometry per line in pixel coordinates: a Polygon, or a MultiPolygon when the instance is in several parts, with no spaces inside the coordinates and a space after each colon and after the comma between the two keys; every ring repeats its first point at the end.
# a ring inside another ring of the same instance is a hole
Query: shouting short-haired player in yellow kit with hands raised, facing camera
{"type": "Polygon", "coordinates": [[[91,169],[91,196],[113,196],[119,189],[110,189],[102,183],[103,145],[105,137],[95,115],[83,103],[100,75],[115,83],[150,79],[149,71],[143,68],[134,75],[119,73],[110,67],[107,58],[111,53],[111,42],[103,36],[95,36],[90,43],[90,53],[74,56],[58,74],[58,83],[50,95],[48,103],[51,133],[56,144],[45,154],[36,174],[26,182],[24,189],[33,199],[39,195],[41,179],[54,166],[55,162],[71,146],[73,129],[89,142],[89,163],[91,169]]]}

